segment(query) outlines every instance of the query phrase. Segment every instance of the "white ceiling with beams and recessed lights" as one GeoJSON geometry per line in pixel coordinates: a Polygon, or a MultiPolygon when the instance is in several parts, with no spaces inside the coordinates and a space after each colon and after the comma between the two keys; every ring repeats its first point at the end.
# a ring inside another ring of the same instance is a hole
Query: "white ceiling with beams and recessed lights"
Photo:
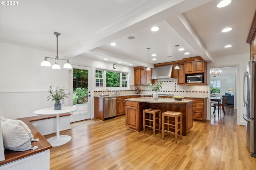
{"type": "MultiPolygon", "coordinates": [[[[256,0],[232,0],[216,8],[220,0],[22,0],[16,6],[0,6],[0,41],[132,66],[201,56],[248,53],[246,38],[256,0]],[[157,32],[152,26],[160,27],[157,32]],[[222,33],[225,27],[232,31],[222,33]],[[135,39],[127,39],[134,36],[135,39]],[[110,43],[117,43],[110,46],[110,43]],[[225,45],[233,45],[224,48],[225,45]],[[189,52],[189,55],[184,55],[189,52]],[[156,60],[151,54],[155,53],[156,60]],[[167,57],[172,56],[172,57],[167,57]]],[[[44,59],[44,56],[37,56],[44,59]]],[[[55,57],[55,56],[48,56],[55,57]]]]}

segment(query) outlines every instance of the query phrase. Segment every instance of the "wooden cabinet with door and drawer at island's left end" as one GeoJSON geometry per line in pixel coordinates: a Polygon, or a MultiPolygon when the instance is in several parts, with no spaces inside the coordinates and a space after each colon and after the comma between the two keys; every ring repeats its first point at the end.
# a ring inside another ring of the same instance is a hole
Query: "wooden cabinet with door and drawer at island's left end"
{"type": "Polygon", "coordinates": [[[136,131],[142,131],[142,103],[126,101],[125,125],[136,131]]]}

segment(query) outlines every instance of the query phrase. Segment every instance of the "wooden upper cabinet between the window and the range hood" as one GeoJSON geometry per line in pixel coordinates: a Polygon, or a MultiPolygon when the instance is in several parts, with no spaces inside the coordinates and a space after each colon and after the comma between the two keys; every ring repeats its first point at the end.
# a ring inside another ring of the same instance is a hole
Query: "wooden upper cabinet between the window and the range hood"
{"type": "Polygon", "coordinates": [[[134,67],[134,86],[146,86],[146,82],[154,83],[151,79],[153,69],[147,71],[146,67],[134,67]]]}

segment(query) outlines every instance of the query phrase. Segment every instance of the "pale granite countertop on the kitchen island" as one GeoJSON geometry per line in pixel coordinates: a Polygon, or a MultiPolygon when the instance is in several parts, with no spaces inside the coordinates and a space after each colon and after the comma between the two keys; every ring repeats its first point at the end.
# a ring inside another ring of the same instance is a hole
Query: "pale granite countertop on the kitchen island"
{"type": "Polygon", "coordinates": [[[131,99],[125,99],[127,101],[134,101],[134,102],[144,102],[144,103],[166,103],[166,104],[186,104],[189,102],[193,102],[193,100],[174,100],[172,98],[131,98],[131,99]]]}

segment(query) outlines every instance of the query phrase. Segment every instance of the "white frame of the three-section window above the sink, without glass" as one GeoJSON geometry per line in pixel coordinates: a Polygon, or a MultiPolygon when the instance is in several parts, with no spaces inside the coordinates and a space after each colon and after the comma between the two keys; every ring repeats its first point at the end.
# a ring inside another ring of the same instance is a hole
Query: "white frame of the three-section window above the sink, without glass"
{"type": "Polygon", "coordinates": [[[104,69],[104,68],[95,68],[94,70],[94,87],[95,87],[95,90],[103,90],[103,89],[106,89],[108,88],[109,90],[130,90],[130,86],[129,86],[129,72],[122,72],[122,71],[118,71],[118,70],[109,70],[109,69],[104,69]],[[102,75],[102,78],[103,78],[103,87],[96,87],[96,70],[102,70],[103,72],[103,75],[102,75]],[[106,87],[106,72],[107,71],[111,71],[111,72],[118,72],[120,73],[120,87],[106,87]],[[126,80],[127,81],[127,87],[122,87],[122,73],[126,74],[126,80]]]}

